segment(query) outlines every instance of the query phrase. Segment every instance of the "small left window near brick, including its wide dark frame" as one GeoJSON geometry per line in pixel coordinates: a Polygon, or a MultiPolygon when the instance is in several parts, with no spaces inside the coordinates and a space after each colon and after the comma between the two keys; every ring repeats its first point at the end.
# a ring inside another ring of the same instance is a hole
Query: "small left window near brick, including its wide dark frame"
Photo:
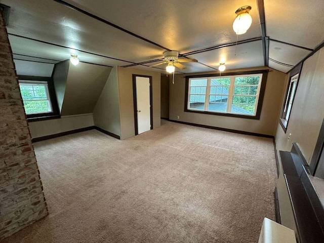
{"type": "Polygon", "coordinates": [[[58,108],[52,79],[33,76],[18,76],[18,79],[28,121],[38,120],[39,117],[57,118],[58,108]]]}

